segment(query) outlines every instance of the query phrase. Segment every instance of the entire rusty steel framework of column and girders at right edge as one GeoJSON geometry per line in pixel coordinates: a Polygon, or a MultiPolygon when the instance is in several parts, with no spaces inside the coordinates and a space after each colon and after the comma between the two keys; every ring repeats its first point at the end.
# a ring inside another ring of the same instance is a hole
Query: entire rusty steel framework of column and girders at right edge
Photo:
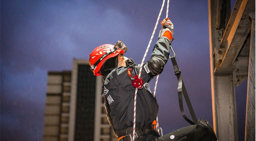
{"type": "Polygon", "coordinates": [[[255,140],[255,0],[237,0],[224,25],[229,2],[208,0],[213,128],[219,140],[238,141],[235,87],[248,77],[245,140],[251,141],[255,140]]]}

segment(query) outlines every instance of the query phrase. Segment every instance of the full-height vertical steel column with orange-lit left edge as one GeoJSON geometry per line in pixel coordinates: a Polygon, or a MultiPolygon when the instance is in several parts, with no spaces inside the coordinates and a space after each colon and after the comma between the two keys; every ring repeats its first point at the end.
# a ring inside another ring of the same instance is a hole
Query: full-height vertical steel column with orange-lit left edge
{"type": "Polygon", "coordinates": [[[223,36],[223,29],[215,27],[217,5],[216,0],[208,0],[213,128],[220,141],[238,141],[234,68],[226,69],[221,75],[214,73],[222,62],[215,60],[222,55],[219,47],[223,36]]]}

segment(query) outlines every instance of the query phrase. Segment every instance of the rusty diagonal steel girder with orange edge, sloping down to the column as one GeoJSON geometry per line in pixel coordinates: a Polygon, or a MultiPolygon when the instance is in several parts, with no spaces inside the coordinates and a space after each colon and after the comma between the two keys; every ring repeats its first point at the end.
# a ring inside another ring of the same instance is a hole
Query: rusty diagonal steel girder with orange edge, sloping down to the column
{"type": "Polygon", "coordinates": [[[250,32],[249,13],[253,11],[255,0],[236,1],[220,46],[215,48],[215,74],[228,74],[235,69],[233,64],[250,32]]]}

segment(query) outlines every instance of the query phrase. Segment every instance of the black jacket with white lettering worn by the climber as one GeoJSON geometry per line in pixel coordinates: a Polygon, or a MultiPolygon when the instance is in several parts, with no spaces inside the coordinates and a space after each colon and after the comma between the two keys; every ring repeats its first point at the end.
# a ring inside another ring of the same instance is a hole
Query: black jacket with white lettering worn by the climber
{"type": "MultiPolygon", "coordinates": [[[[151,56],[160,56],[166,63],[169,57],[170,42],[168,38],[161,37],[156,43],[151,56]]],[[[132,77],[135,72],[139,74],[140,64],[132,69],[132,77]]],[[[144,69],[141,72],[143,84],[149,82],[150,76],[144,69]]],[[[135,87],[127,74],[127,67],[117,67],[104,79],[104,95],[108,116],[112,119],[115,130],[133,127],[134,121],[134,94],[135,87]]],[[[151,124],[158,114],[158,103],[145,87],[138,89],[136,99],[136,127],[145,127],[151,124]]]]}

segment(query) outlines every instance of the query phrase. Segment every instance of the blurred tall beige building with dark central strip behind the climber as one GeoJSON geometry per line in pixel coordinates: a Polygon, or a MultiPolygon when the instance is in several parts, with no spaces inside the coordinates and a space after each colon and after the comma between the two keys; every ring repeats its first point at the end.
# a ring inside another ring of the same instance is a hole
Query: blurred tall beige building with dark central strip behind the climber
{"type": "Polygon", "coordinates": [[[102,77],[88,60],[72,71],[48,72],[43,141],[116,141],[101,95],[102,77]]]}

